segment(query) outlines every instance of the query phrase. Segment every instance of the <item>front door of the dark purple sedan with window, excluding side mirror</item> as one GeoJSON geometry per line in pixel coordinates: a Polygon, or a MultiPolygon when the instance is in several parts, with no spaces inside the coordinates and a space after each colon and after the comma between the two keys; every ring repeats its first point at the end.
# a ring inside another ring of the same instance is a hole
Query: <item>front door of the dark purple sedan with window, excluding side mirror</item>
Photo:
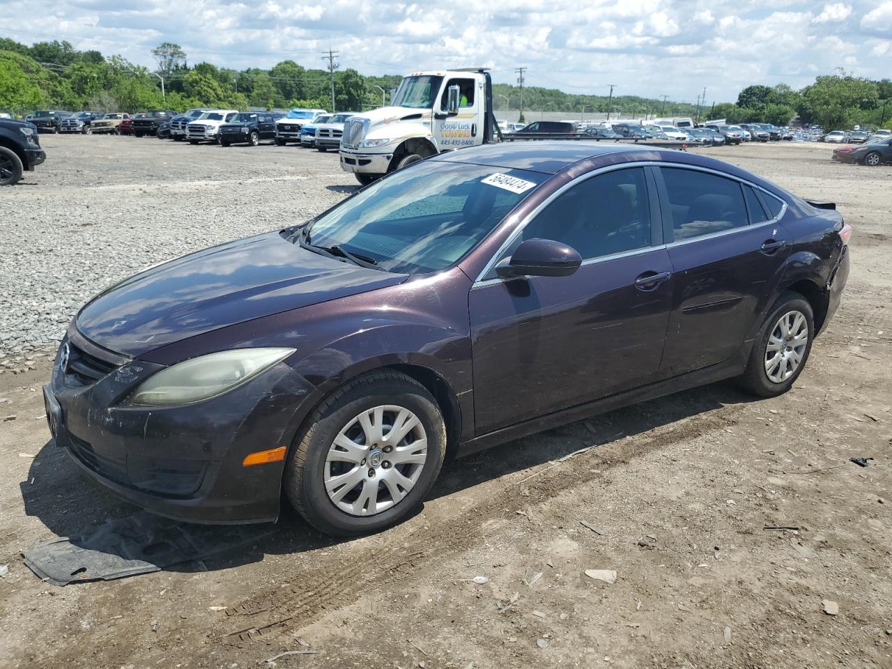
{"type": "Polygon", "coordinates": [[[533,238],[569,244],[582,266],[569,277],[508,280],[490,268],[475,282],[477,434],[647,384],[659,369],[672,275],[649,169],[578,179],[491,266],[533,238]]]}

